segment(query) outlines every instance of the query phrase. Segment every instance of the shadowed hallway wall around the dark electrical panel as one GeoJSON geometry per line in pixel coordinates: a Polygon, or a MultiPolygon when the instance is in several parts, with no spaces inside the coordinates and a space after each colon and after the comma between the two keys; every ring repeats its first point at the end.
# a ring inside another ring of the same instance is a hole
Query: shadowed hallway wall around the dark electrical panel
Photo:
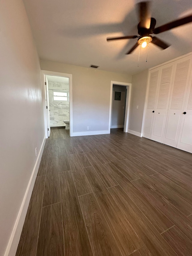
{"type": "Polygon", "coordinates": [[[126,86],[113,85],[111,128],[124,127],[126,89],[126,86]],[[115,92],[121,92],[120,101],[115,101],[115,92]]]}

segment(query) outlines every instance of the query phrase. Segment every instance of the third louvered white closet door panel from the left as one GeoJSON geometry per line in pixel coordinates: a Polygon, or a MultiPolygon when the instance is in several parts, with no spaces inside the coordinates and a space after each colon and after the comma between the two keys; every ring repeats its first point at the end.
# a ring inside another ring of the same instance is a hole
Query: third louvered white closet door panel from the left
{"type": "Polygon", "coordinates": [[[184,112],[184,104],[189,83],[191,57],[187,56],[175,62],[170,102],[167,111],[163,143],[177,147],[179,131],[184,112]]]}

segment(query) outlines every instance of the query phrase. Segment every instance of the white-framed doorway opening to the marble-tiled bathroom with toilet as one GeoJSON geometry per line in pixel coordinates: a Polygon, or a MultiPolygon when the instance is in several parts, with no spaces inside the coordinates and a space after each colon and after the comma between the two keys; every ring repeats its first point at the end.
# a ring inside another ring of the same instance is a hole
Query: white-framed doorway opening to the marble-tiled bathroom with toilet
{"type": "Polygon", "coordinates": [[[44,101],[44,125],[46,138],[51,128],[64,127],[72,134],[72,75],[41,71],[44,101]],[[64,123],[64,120],[66,123],[64,123]]]}

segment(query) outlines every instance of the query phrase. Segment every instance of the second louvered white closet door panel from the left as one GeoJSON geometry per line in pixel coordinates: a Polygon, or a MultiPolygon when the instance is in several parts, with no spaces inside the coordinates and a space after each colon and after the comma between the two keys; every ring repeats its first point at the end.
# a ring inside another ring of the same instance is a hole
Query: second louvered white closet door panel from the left
{"type": "Polygon", "coordinates": [[[163,142],[165,131],[165,122],[173,79],[173,65],[174,63],[172,62],[164,65],[160,69],[160,83],[158,84],[157,100],[155,102],[151,139],[161,143],[163,142]]]}

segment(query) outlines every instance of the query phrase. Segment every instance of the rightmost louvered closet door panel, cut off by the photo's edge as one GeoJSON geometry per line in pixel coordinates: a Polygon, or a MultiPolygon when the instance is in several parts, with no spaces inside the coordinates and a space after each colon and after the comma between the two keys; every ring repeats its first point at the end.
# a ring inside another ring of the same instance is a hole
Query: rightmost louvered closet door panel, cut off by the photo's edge
{"type": "Polygon", "coordinates": [[[192,153],[192,71],[182,114],[177,148],[192,153]]]}

